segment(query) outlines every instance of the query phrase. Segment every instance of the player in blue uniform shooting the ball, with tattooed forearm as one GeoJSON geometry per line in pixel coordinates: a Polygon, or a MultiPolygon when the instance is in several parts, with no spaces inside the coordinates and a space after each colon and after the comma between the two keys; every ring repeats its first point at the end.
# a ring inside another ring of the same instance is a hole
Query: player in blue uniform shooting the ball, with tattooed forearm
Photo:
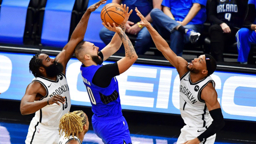
{"type": "Polygon", "coordinates": [[[83,82],[89,94],[94,132],[104,144],[131,144],[127,122],[122,115],[118,82],[115,76],[125,72],[137,60],[134,47],[125,34],[125,24],[132,13],[126,5],[125,19],[120,27],[102,23],[107,29],[116,32],[111,42],[99,51],[93,43],[82,41],[76,46],[75,56],[82,62],[80,67],[83,82]],[[113,64],[101,65],[124,44],[125,57],[113,64]]]}

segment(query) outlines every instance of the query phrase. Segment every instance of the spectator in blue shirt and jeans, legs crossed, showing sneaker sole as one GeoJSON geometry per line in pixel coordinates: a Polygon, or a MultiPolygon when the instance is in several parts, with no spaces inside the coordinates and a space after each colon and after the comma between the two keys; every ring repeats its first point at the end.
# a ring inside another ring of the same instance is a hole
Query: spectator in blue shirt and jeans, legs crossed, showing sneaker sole
{"type": "Polygon", "coordinates": [[[182,56],[185,43],[195,43],[198,40],[200,33],[197,32],[202,30],[206,20],[206,2],[207,0],[163,0],[163,11],[151,11],[154,25],[161,36],[170,39],[170,47],[177,56],[182,56]]]}

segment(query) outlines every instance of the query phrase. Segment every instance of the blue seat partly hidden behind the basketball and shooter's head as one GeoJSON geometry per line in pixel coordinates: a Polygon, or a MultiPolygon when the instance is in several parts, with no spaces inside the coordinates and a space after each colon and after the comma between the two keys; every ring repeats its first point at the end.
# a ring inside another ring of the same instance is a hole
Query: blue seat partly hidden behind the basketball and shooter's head
{"type": "MultiPolygon", "coordinates": [[[[96,2],[98,2],[98,0],[89,0],[88,6],[91,6],[96,2]]],[[[111,0],[108,0],[106,4],[108,3],[111,3],[111,0]]],[[[104,27],[101,24],[102,21],[100,19],[100,12],[106,4],[99,6],[99,8],[97,8],[94,12],[91,13],[86,33],[84,36],[84,41],[94,43],[95,46],[99,47],[100,50],[106,46],[104,42],[100,39],[99,35],[100,30],[104,27]]]]}

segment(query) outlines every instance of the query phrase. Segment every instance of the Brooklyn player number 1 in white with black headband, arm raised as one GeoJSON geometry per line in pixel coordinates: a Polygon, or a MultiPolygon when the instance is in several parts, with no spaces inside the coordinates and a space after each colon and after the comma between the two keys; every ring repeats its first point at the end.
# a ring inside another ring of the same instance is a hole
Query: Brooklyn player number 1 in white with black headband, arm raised
{"type": "Polygon", "coordinates": [[[208,54],[201,55],[191,63],[177,56],[168,43],[150,25],[136,8],[156,48],[177,69],[180,76],[180,113],[185,122],[177,144],[213,144],[218,132],[224,126],[223,115],[217,100],[215,82],[211,74],[216,69],[215,59],[208,54]]]}

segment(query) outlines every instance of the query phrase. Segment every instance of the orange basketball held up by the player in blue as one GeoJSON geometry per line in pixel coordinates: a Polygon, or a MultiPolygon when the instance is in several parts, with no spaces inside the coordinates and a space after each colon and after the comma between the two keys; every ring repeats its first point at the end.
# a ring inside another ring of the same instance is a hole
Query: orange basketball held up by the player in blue
{"type": "Polygon", "coordinates": [[[107,25],[107,22],[111,26],[115,23],[116,26],[119,26],[124,21],[125,11],[117,3],[109,3],[105,5],[100,13],[100,18],[102,22],[107,25]]]}

